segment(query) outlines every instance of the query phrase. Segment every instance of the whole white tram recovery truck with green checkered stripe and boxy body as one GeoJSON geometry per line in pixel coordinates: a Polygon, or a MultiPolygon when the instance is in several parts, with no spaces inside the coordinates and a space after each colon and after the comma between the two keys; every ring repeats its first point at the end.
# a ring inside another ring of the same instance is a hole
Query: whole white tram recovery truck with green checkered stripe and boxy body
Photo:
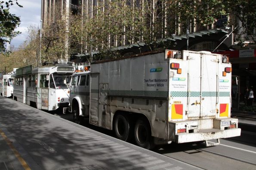
{"type": "Polygon", "coordinates": [[[231,118],[231,72],[228,57],[207,51],[97,61],[90,71],[73,74],[70,110],[76,122],[88,117],[146,149],[172,142],[216,145],[241,134],[231,118]]]}

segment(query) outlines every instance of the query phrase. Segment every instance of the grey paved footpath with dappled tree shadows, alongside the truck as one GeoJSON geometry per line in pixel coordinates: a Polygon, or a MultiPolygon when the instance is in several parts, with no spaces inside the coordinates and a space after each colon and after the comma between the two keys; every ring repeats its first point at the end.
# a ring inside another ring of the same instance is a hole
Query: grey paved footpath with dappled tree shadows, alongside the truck
{"type": "Polygon", "coordinates": [[[0,96],[0,170],[195,170],[0,96]]]}

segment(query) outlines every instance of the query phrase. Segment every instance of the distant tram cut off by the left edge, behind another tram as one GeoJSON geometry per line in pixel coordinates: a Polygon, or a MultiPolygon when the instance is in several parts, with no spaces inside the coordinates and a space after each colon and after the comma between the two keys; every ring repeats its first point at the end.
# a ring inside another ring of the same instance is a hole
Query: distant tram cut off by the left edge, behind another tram
{"type": "Polygon", "coordinates": [[[13,73],[15,72],[16,69],[13,69],[13,72],[3,75],[0,74],[0,95],[7,97],[7,98],[12,98],[13,95],[13,73]]]}

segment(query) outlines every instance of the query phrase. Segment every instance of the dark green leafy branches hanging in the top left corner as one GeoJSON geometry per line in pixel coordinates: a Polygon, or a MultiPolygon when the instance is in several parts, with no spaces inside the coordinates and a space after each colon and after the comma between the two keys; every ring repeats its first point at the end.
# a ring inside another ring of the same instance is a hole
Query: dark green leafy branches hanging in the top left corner
{"type": "Polygon", "coordinates": [[[0,1],[0,53],[6,52],[4,44],[20,33],[14,31],[20,24],[20,18],[9,12],[10,6],[14,4],[22,7],[17,0],[0,1]]]}

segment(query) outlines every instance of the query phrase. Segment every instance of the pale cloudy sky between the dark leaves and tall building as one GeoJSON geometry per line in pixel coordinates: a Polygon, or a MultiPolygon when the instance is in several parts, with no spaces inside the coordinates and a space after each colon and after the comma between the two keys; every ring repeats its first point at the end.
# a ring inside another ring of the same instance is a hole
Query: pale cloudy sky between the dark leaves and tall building
{"type": "Polygon", "coordinates": [[[17,5],[10,7],[10,13],[19,16],[21,20],[21,24],[15,30],[22,33],[13,38],[11,42],[11,45],[15,48],[19,48],[19,45],[25,41],[29,26],[40,28],[41,18],[41,0],[18,0],[18,3],[22,5],[23,8],[17,5]]]}

